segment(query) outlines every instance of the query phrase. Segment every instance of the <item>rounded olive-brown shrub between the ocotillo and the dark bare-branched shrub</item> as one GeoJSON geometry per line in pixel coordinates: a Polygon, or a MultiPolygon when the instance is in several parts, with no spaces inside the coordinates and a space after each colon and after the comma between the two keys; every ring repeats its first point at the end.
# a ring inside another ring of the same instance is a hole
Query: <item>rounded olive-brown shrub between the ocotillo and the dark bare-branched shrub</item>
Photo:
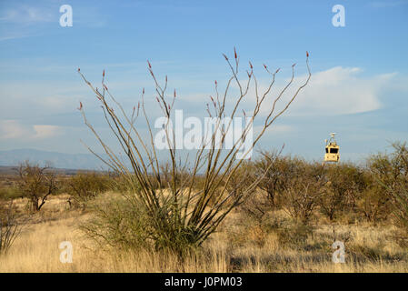
{"type": "Polygon", "coordinates": [[[68,181],[69,203],[85,210],[87,202],[109,189],[109,178],[97,173],[78,173],[68,181]]]}

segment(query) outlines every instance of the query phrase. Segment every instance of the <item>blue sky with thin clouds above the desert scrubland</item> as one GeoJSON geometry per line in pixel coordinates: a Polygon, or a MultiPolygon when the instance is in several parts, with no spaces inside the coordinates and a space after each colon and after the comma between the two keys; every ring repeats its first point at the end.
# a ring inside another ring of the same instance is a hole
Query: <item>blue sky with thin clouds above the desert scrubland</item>
{"type": "MultiPolygon", "coordinates": [[[[201,116],[214,80],[230,72],[222,54],[254,64],[260,87],[281,68],[276,92],[296,63],[296,83],[312,78],[268,129],[258,149],[322,160],[337,133],[342,160],[359,161],[408,140],[408,1],[4,1],[0,0],[0,150],[101,152],[76,109],[81,101],[110,140],[95,95],[77,74],[106,84],[132,108],[146,89],[159,116],[146,60],[168,75],[175,108],[201,116]],[[73,25],[60,25],[71,5],[73,25]],[[334,26],[334,5],[344,26],[334,26]]],[[[243,75],[244,77],[244,75],[243,75]]],[[[289,96],[286,96],[288,98],[289,96]]],[[[150,98],[150,99],[149,99],[150,98]]],[[[249,101],[251,98],[249,98],[249,101]]],[[[287,99],[286,99],[287,100],[287,99]]],[[[147,102],[148,103],[148,102],[147,102]]]]}

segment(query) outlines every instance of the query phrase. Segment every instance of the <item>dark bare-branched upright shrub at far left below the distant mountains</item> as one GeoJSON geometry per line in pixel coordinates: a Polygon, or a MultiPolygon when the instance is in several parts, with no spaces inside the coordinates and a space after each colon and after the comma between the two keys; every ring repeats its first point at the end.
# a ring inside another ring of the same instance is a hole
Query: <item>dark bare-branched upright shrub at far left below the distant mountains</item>
{"type": "Polygon", "coordinates": [[[19,191],[29,199],[31,208],[39,211],[45,205],[48,196],[55,194],[57,189],[55,173],[49,166],[42,167],[25,161],[19,166],[18,175],[19,191]]]}

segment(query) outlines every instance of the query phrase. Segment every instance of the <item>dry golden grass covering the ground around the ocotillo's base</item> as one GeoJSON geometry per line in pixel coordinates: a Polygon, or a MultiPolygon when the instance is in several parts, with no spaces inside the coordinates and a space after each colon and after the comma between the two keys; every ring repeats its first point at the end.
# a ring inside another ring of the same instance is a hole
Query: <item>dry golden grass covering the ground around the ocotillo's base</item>
{"type": "MultiPolygon", "coordinates": [[[[25,203],[16,201],[21,209],[25,203]]],[[[68,210],[66,196],[51,197],[10,251],[0,256],[0,272],[408,272],[408,247],[391,223],[336,225],[337,236],[348,240],[345,263],[334,264],[330,224],[314,226],[312,236],[292,244],[235,211],[196,256],[180,262],[177,256],[162,253],[98,249],[77,228],[89,216],[68,210]],[[72,264],[59,260],[63,241],[73,245],[72,264]]]]}

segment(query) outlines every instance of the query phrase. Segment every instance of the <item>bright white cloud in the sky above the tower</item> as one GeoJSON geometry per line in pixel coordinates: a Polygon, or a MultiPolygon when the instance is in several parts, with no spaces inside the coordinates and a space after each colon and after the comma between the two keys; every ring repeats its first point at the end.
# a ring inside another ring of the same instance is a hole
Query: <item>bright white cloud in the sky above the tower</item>
{"type": "MultiPolygon", "coordinates": [[[[297,96],[288,115],[349,115],[381,108],[382,92],[393,84],[396,74],[364,77],[362,73],[361,68],[343,66],[313,73],[309,85],[297,96]]],[[[304,79],[305,76],[297,78],[281,100],[281,105],[292,97],[304,79]]],[[[274,92],[283,87],[277,85],[274,92]]],[[[264,112],[267,107],[264,106],[264,112]]]]}

